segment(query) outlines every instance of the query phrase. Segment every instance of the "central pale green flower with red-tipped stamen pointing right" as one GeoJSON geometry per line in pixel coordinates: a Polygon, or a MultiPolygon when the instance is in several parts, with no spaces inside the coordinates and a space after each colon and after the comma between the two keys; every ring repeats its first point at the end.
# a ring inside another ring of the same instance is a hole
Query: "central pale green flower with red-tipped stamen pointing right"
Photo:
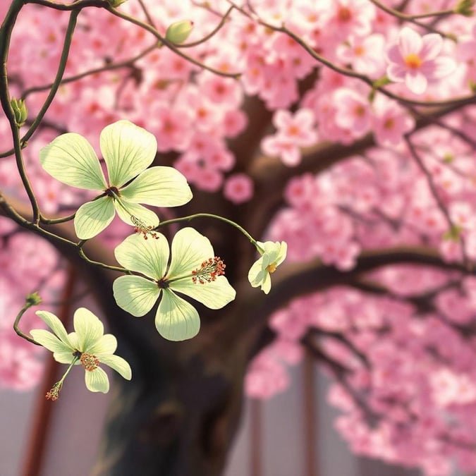
{"type": "Polygon", "coordinates": [[[171,260],[166,237],[144,240],[139,235],[126,238],[114,250],[116,260],[143,276],[121,276],[113,284],[119,307],[133,316],[143,316],[161,298],[155,326],[164,338],[183,341],[200,329],[198,312],[176,293],[181,293],[219,309],[235,298],[236,292],[223,276],[225,265],[214,256],[208,238],[194,228],[183,228],[173,237],[171,260]]]}

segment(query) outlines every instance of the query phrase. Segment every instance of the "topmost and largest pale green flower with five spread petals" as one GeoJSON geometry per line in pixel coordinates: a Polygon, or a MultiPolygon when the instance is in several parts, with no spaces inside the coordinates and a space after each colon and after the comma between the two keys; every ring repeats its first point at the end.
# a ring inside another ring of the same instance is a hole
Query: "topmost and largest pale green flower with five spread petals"
{"type": "Polygon", "coordinates": [[[56,180],[100,192],[76,212],[78,238],[96,236],[116,212],[127,224],[142,230],[155,228],[159,224],[157,215],[139,204],[177,207],[192,198],[185,177],[176,169],[147,169],[157,152],[157,140],[147,130],[129,121],[118,121],[102,130],[99,146],[106,162],[107,182],[94,149],[80,134],[60,135],[39,152],[43,169],[56,180]]]}

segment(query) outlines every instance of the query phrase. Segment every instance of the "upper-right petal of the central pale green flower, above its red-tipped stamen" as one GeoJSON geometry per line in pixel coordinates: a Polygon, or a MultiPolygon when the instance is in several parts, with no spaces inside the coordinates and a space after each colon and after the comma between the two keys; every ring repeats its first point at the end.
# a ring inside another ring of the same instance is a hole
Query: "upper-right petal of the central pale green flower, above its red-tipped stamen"
{"type": "Polygon", "coordinates": [[[182,228],[172,240],[172,259],[169,279],[190,275],[200,267],[202,262],[214,257],[212,244],[206,236],[198,233],[195,228],[182,228]]]}

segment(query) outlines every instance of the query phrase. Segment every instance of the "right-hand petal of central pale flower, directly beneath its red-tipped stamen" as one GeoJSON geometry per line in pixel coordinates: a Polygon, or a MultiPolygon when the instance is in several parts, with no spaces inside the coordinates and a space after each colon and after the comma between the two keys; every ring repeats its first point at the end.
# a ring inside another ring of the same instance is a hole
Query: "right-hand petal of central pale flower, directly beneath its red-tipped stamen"
{"type": "Polygon", "coordinates": [[[193,283],[191,277],[179,279],[170,283],[170,288],[188,295],[210,309],[220,309],[236,297],[236,291],[225,276],[218,276],[215,281],[204,284],[193,283]]]}

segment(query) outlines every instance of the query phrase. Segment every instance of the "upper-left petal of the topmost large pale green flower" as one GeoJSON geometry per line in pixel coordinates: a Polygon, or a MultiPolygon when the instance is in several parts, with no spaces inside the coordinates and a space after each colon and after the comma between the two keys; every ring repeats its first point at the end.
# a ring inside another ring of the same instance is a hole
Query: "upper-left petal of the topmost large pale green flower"
{"type": "Polygon", "coordinates": [[[88,190],[106,190],[99,159],[82,135],[60,135],[39,151],[45,171],[57,181],[88,190]]]}

